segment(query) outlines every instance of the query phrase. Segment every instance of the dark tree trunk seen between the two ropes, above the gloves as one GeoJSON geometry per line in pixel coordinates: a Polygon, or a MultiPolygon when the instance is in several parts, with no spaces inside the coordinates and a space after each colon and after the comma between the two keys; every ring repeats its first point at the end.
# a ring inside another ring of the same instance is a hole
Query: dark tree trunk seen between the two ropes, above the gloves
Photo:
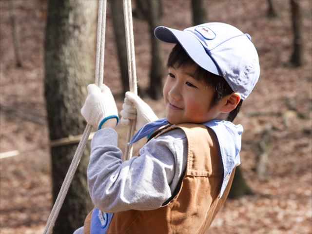
{"type": "Polygon", "coordinates": [[[129,90],[126,32],[122,1],[110,0],[123,93],[129,90]]]}

